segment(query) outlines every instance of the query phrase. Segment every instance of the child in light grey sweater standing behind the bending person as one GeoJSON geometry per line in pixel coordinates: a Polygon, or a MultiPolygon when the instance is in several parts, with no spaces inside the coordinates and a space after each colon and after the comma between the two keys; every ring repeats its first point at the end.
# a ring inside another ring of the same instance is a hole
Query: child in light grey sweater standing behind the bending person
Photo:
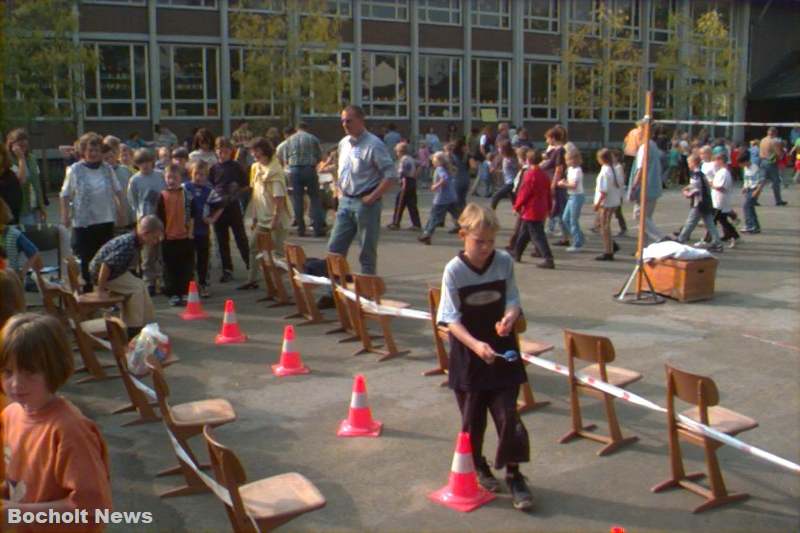
{"type": "MultiPolygon", "coordinates": [[[[164,190],[164,174],[154,168],[153,152],[139,148],[134,153],[133,162],[139,172],[128,183],[128,203],[133,210],[134,222],[143,216],[156,214],[156,206],[161,191],[164,190]]],[[[148,286],[150,296],[157,290],[157,280],[161,277],[161,246],[146,247],[142,250],[142,278],[148,286]]]]}

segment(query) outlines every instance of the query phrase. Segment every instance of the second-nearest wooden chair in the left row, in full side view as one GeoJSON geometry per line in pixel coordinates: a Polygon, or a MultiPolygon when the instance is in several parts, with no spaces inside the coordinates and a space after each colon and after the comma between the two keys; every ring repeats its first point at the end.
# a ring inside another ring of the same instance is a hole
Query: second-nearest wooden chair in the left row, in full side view
{"type": "MultiPolygon", "coordinates": [[[[148,357],[146,363],[153,377],[153,387],[156,391],[161,417],[164,420],[167,431],[172,433],[175,440],[183,447],[186,454],[195,465],[202,469],[209,469],[210,465],[201,465],[197,461],[192,449],[189,447],[188,440],[202,433],[203,426],[208,425],[216,427],[236,420],[236,412],[233,410],[233,406],[228,400],[222,398],[170,405],[169,385],[167,385],[167,380],[164,378],[164,371],[161,364],[154,357],[148,357]]],[[[176,455],[176,457],[178,457],[178,465],[162,470],[156,474],[156,477],[183,474],[186,484],[166,490],[159,494],[159,497],[170,498],[173,496],[188,496],[190,494],[208,492],[208,487],[203,483],[203,480],[194,473],[194,470],[179,456],[176,455]]]]}

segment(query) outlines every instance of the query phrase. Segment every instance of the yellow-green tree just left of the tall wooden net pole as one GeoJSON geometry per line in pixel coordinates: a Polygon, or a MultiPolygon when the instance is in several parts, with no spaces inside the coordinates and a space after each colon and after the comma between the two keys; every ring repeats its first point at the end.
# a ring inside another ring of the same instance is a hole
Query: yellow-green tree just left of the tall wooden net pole
{"type": "Polygon", "coordinates": [[[561,54],[565,73],[559,78],[559,101],[569,104],[569,118],[600,121],[604,144],[611,118],[638,118],[629,109],[638,109],[642,52],[630,24],[623,10],[597,2],[591,19],[570,31],[561,54]]]}

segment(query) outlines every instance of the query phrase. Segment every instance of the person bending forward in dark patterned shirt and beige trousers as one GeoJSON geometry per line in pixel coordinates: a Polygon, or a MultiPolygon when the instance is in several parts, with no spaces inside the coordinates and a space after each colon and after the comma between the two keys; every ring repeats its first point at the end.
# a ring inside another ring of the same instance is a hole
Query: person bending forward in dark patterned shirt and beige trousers
{"type": "Polygon", "coordinates": [[[139,220],[136,230],[115,237],[97,251],[89,264],[97,292],[125,296],[122,303],[122,320],[133,336],[147,323],[155,320],[153,302],[147,285],[130,272],[139,251],[144,246],[155,246],[164,236],[164,224],[155,215],[139,220]]]}

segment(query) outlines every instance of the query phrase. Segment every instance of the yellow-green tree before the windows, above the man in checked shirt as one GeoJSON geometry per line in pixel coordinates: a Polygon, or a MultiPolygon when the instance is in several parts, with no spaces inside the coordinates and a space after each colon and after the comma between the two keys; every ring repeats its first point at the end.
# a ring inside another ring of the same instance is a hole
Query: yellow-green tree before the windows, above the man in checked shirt
{"type": "Polygon", "coordinates": [[[263,8],[263,0],[238,3],[243,9],[231,13],[231,38],[244,51],[233,73],[234,112],[297,123],[303,113],[338,111],[349,80],[336,54],[341,19],[328,11],[328,2],[285,0],[280,13],[247,10],[263,8]]]}

